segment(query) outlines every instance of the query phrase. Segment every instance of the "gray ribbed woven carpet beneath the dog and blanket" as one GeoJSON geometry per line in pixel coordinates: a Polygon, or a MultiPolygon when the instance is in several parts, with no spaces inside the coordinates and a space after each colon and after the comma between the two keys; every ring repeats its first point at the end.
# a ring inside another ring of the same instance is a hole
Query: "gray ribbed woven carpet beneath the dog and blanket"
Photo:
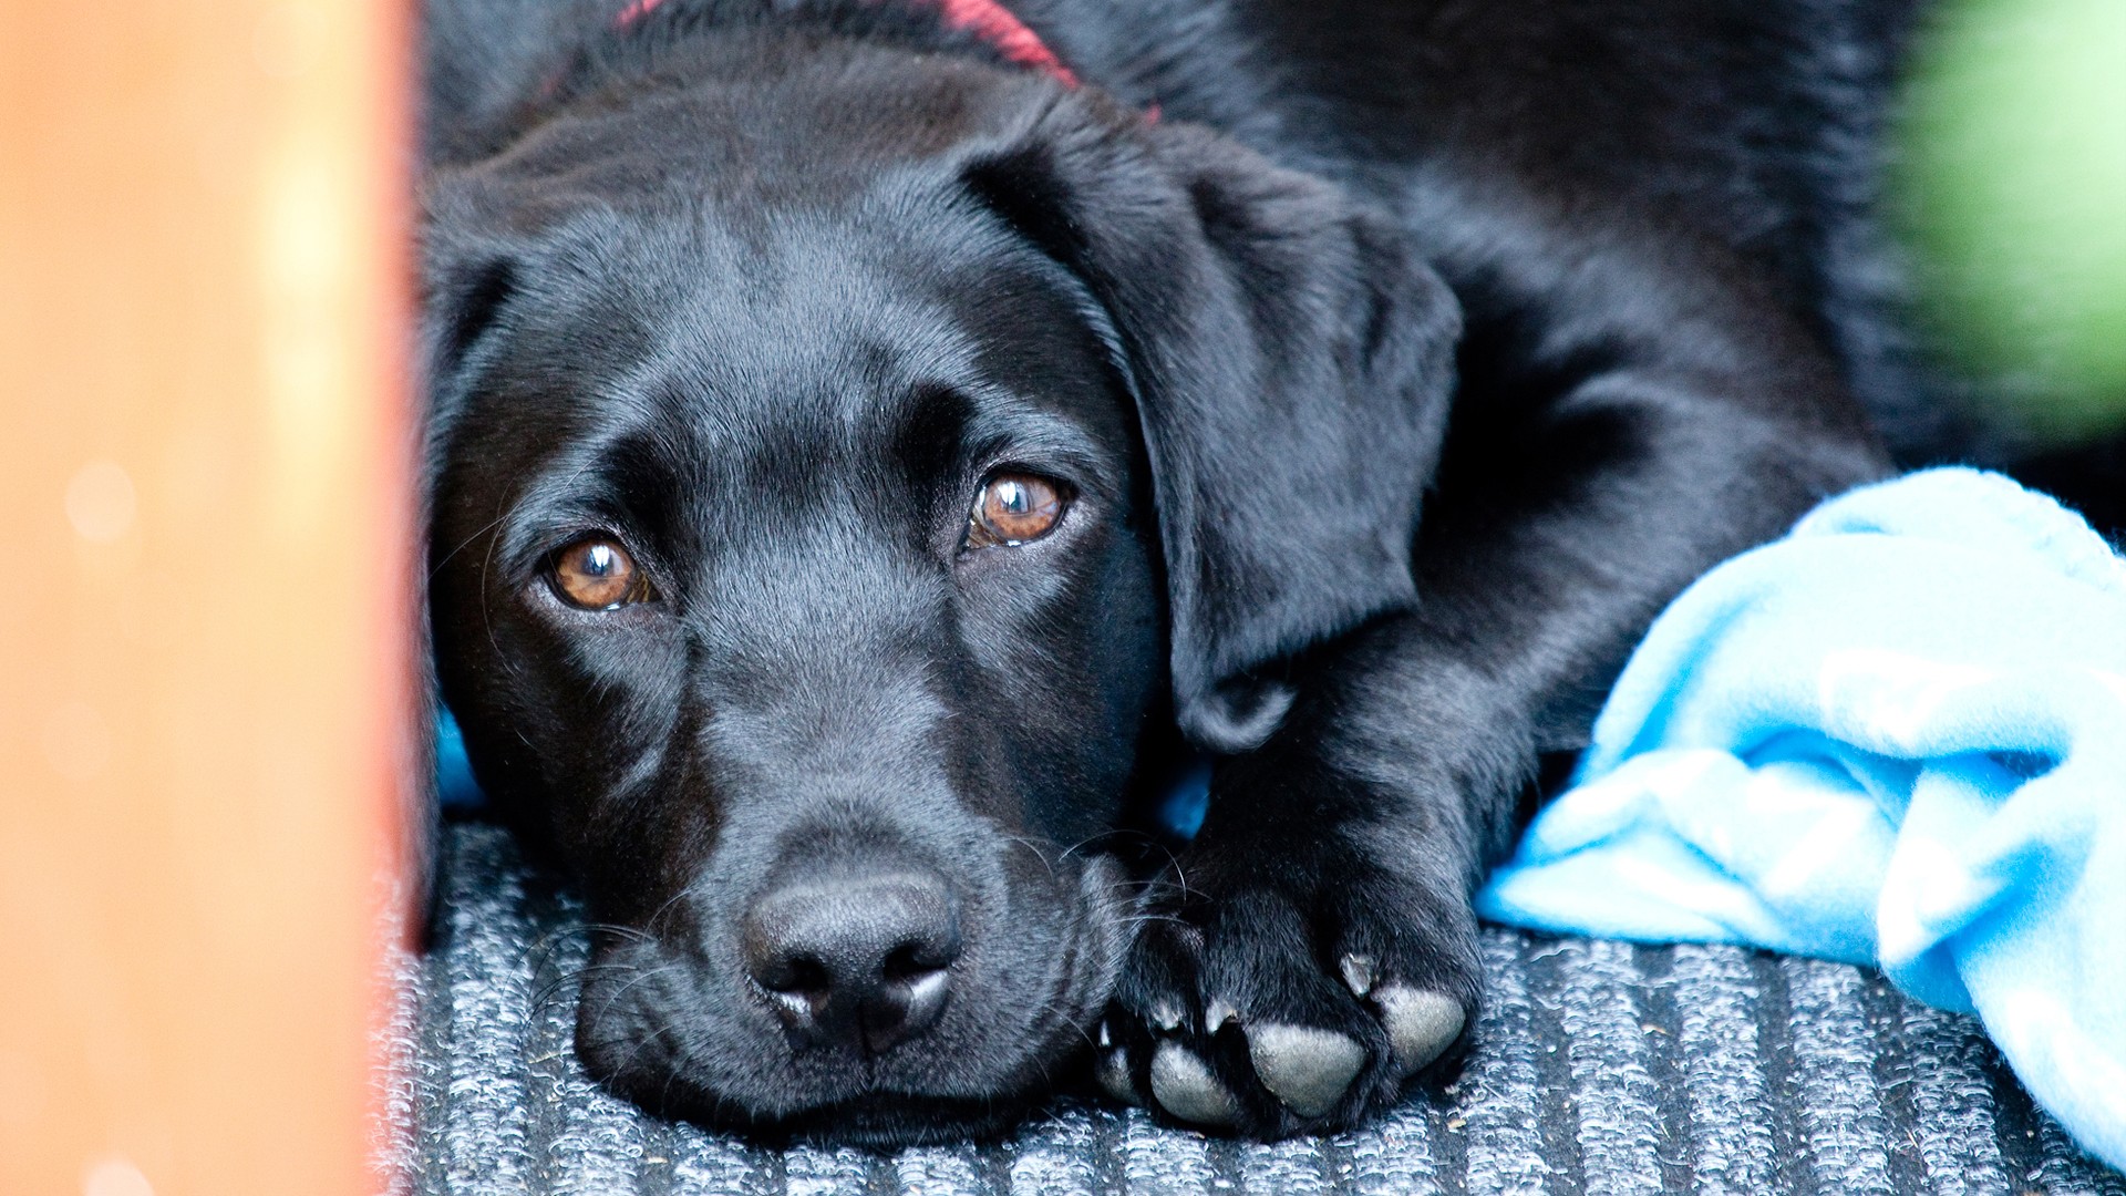
{"type": "MultiPolygon", "coordinates": [[[[1480,1045],[1356,1134],[1244,1145],[1063,1107],[997,1147],[763,1151],[576,1066],[578,907],[506,834],[446,830],[449,943],[402,964],[387,1149],[419,1194],[2073,1192],[2126,1196],[1977,1028],[1877,977],[1731,947],[1492,930],[1480,1045]]],[[[2122,1094],[2126,1098],[2126,1094],[2122,1094]]]]}

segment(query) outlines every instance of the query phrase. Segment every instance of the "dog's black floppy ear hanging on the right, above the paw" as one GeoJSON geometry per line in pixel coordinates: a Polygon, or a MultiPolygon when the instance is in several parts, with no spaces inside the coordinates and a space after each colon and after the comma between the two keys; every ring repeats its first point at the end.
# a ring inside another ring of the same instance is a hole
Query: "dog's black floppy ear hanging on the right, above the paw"
{"type": "Polygon", "coordinates": [[[1416,600],[1461,309],[1335,187],[1201,128],[1069,109],[963,179],[1110,321],[1159,506],[1176,711],[1237,751],[1290,702],[1280,660],[1416,600]]]}

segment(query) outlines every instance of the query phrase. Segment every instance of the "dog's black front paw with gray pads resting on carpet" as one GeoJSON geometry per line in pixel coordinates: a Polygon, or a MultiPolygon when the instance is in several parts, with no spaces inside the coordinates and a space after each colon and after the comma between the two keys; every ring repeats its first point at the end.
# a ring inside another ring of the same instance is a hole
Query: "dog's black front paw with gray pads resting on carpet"
{"type": "Polygon", "coordinates": [[[1475,917],[1363,860],[1184,860],[1101,1024],[1099,1079],[1180,1122],[1273,1139],[1393,1102],[1475,1011],[1475,917]]]}

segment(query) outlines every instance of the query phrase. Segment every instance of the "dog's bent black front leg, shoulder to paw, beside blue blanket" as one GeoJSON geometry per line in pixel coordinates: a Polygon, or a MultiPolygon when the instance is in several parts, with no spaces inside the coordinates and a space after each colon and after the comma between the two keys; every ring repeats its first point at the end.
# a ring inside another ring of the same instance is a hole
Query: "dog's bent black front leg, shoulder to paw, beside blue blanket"
{"type": "Polygon", "coordinates": [[[1603,345],[1565,353],[1577,375],[1465,364],[1420,607],[1295,660],[1282,728],[1214,766],[1103,1026],[1110,1092],[1263,1136],[1393,1100],[1475,1013],[1469,896],[1539,755],[1584,745],[1692,577],[1879,470],[1835,383],[1777,415],[1769,389],[1809,368],[1741,353],[1722,387],[1652,330],[1643,355],[1603,345]]]}

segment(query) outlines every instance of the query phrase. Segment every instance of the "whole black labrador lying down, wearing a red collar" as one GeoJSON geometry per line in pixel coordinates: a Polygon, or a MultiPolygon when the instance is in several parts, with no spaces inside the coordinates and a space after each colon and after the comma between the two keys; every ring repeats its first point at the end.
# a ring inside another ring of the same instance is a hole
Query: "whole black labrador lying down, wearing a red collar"
{"type": "Polygon", "coordinates": [[[1365,1119],[1654,613],[1909,398],[1903,4],[427,19],[440,692],[676,1115],[1365,1119]]]}

